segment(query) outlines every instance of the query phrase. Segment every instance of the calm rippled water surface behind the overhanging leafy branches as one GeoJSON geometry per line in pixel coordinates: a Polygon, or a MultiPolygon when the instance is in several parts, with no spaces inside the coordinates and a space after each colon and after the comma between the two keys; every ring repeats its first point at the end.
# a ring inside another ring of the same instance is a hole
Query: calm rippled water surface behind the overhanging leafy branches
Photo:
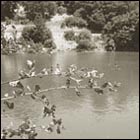
{"type": "MultiPolygon", "coordinates": [[[[57,53],[53,56],[13,55],[1,56],[1,81],[18,77],[17,72],[26,68],[27,59],[35,59],[36,71],[59,63],[63,70],[70,64],[78,67],[95,67],[104,72],[104,81],[117,81],[122,85],[118,92],[107,92],[97,95],[93,90],[81,90],[82,96],[77,97],[72,89],[45,93],[51,103],[57,106],[56,115],[63,119],[65,130],[60,135],[56,132],[47,134],[39,132],[37,138],[139,138],[139,54],[138,53],[57,53]],[[115,64],[120,69],[115,68],[115,64]]],[[[32,88],[40,84],[42,89],[65,84],[64,78],[45,77],[23,81],[32,88]]],[[[11,92],[8,85],[1,87],[4,93],[11,92]]],[[[2,128],[11,121],[19,125],[25,117],[30,117],[37,125],[47,125],[50,118],[42,119],[42,104],[29,97],[14,99],[16,107],[8,110],[2,104],[2,128]]]]}

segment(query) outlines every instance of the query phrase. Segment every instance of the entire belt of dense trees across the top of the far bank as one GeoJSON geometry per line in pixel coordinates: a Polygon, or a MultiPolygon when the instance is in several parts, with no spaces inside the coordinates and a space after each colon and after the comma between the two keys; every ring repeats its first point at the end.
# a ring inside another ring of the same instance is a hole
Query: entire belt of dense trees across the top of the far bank
{"type": "Polygon", "coordinates": [[[37,14],[49,20],[56,12],[67,12],[73,17],[62,27],[87,27],[92,33],[102,33],[107,50],[139,50],[139,1],[2,1],[2,20],[14,18],[17,3],[25,7],[31,21],[37,14]]]}

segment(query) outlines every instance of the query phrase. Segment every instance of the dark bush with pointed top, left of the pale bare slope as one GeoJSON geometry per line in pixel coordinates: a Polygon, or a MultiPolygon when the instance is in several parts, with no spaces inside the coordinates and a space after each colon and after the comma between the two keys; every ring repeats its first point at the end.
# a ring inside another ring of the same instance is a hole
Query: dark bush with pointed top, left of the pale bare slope
{"type": "Polygon", "coordinates": [[[36,44],[41,43],[46,48],[54,48],[51,31],[45,27],[45,22],[41,14],[36,15],[34,24],[35,27],[25,27],[23,29],[23,38],[27,41],[32,40],[36,44]]]}

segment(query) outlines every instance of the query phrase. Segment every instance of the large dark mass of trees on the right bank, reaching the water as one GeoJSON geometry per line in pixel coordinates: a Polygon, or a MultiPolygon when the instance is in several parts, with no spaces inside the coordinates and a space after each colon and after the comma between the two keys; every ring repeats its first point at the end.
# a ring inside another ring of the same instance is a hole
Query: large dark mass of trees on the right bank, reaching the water
{"type": "Polygon", "coordinates": [[[138,1],[66,1],[67,12],[103,33],[107,50],[139,50],[138,1]]]}

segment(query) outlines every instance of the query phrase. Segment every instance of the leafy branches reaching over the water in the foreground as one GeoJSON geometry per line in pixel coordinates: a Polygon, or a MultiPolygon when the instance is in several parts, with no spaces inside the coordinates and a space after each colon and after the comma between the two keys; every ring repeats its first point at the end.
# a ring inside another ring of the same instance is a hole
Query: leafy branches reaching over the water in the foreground
{"type": "MultiPolygon", "coordinates": [[[[104,90],[108,89],[108,91],[116,92],[117,88],[121,86],[121,83],[114,82],[111,83],[109,81],[104,82],[102,85],[98,85],[97,79],[101,79],[104,77],[104,73],[99,73],[95,68],[88,69],[88,68],[81,68],[78,69],[76,65],[72,64],[67,68],[66,72],[63,72],[60,68],[60,65],[57,64],[56,68],[54,69],[52,66],[49,69],[42,69],[39,73],[36,74],[35,71],[35,60],[27,60],[27,68],[28,72],[25,70],[21,70],[19,72],[19,79],[9,82],[9,85],[14,87],[15,90],[12,92],[14,98],[17,98],[18,96],[25,96],[25,86],[22,84],[21,80],[31,77],[39,77],[42,78],[46,75],[58,75],[66,78],[65,87],[67,89],[71,88],[72,81],[75,82],[74,86],[74,92],[79,97],[81,95],[80,88],[82,87],[81,82],[87,79],[87,84],[85,85],[85,88],[94,89],[94,91],[97,94],[104,94],[104,90]],[[78,78],[76,78],[78,77],[78,78]]],[[[33,100],[39,100],[43,103],[43,116],[42,118],[45,118],[46,116],[52,118],[52,122],[48,126],[40,126],[40,128],[46,132],[53,132],[54,128],[56,128],[56,132],[58,134],[61,133],[61,128],[63,129],[64,126],[62,125],[62,119],[56,119],[56,106],[50,105],[50,101],[47,99],[45,95],[42,95],[41,97],[38,95],[40,93],[41,88],[40,85],[35,85],[35,88],[32,90],[29,86],[26,87],[28,91],[30,91],[32,94],[30,94],[30,97],[33,100]]],[[[6,93],[5,95],[4,105],[7,106],[8,109],[14,109],[15,104],[14,102],[10,102],[8,100],[9,94],[6,93]]],[[[3,112],[5,112],[5,109],[3,109],[3,112]]],[[[16,130],[13,130],[12,128],[4,128],[1,133],[1,139],[6,139],[7,137],[13,137],[13,136],[20,136],[23,138],[23,135],[27,135],[28,139],[35,139],[35,137],[38,135],[36,132],[36,125],[31,125],[31,121],[26,120],[24,121],[16,130]]]]}

